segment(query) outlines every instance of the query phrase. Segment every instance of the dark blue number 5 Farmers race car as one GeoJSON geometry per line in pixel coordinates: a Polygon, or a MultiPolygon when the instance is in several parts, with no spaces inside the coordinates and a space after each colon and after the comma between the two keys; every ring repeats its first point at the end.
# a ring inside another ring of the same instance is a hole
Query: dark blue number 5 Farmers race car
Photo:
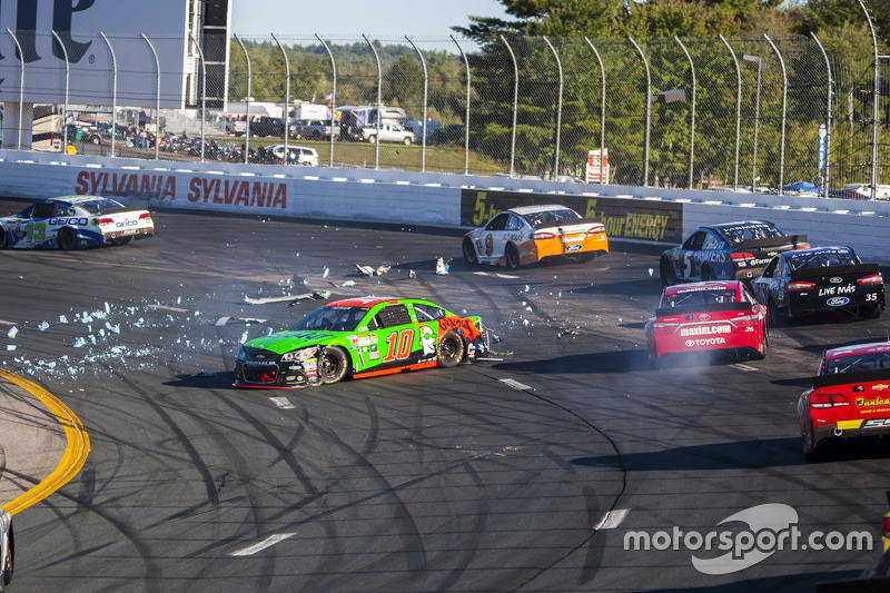
{"type": "Polygon", "coordinates": [[[661,281],[744,280],[760,276],[779,253],[810,247],[807,235],[785,235],[767,220],[700,227],[661,256],[661,281]]]}

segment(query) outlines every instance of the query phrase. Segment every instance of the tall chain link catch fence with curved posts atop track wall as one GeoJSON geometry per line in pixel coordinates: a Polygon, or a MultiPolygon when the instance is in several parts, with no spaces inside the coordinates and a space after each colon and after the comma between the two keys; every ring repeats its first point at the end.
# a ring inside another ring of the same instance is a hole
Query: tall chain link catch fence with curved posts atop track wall
{"type": "MultiPolygon", "coordinates": [[[[0,52],[18,56],[19,45],[0,40],[0,52]]],[[[32,137],[4,127],[3,146],[287,162],[284,147],[280,158],[266,150],[287,145],[320,166],[546,179],[585,179],[591,151],[605,149],[602,172],[617,185],[781,191],[801,181],[844,196],[869,185],[872,166],[890,185],[890,85],[876,93],[873,59],[828,56],[815,37],[235,36],[228,48],[180,46],[185,77],[171,45],[97,36],[89,58],[107,69],[80,61],[65,76],[7,60],[4,105],[18,109],[17,95],[40,105],[23,128],[32,137]],[[109,95],[112,105],[91,98],[109,95]]]]}

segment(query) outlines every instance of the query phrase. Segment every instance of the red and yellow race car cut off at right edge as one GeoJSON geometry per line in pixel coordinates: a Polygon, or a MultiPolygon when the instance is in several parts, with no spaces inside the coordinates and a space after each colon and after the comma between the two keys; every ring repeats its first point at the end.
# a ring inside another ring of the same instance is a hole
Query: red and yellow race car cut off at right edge
{"type": "Polygon", "coordinates": [[[807,458],[831,437],[890,434],[890,342],[825,350],[798,419],[807,458]]]}

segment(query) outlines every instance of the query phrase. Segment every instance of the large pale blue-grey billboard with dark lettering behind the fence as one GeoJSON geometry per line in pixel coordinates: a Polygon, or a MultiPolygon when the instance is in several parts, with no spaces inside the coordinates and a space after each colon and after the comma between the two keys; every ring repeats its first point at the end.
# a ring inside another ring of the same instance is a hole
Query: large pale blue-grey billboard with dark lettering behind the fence
{"type": "Polygon", "coordinates": [[[0,100],[18,102],[23,79],[24,102],[151,107],[160,88],[161,107],[181,107],[187,4],[0,2],[0,100]]]}

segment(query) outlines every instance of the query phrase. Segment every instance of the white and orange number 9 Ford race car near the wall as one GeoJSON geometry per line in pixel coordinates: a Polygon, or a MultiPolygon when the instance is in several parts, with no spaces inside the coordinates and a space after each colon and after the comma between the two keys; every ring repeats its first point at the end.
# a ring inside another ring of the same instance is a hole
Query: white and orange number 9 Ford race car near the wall
{"type": "Polygon", "coordinates": [[[464,261],[517,268],[545,257],[589,261],[609,253],[605,227],[565,206],[522,206],[496,214],[464,236],[464,261]]]}

